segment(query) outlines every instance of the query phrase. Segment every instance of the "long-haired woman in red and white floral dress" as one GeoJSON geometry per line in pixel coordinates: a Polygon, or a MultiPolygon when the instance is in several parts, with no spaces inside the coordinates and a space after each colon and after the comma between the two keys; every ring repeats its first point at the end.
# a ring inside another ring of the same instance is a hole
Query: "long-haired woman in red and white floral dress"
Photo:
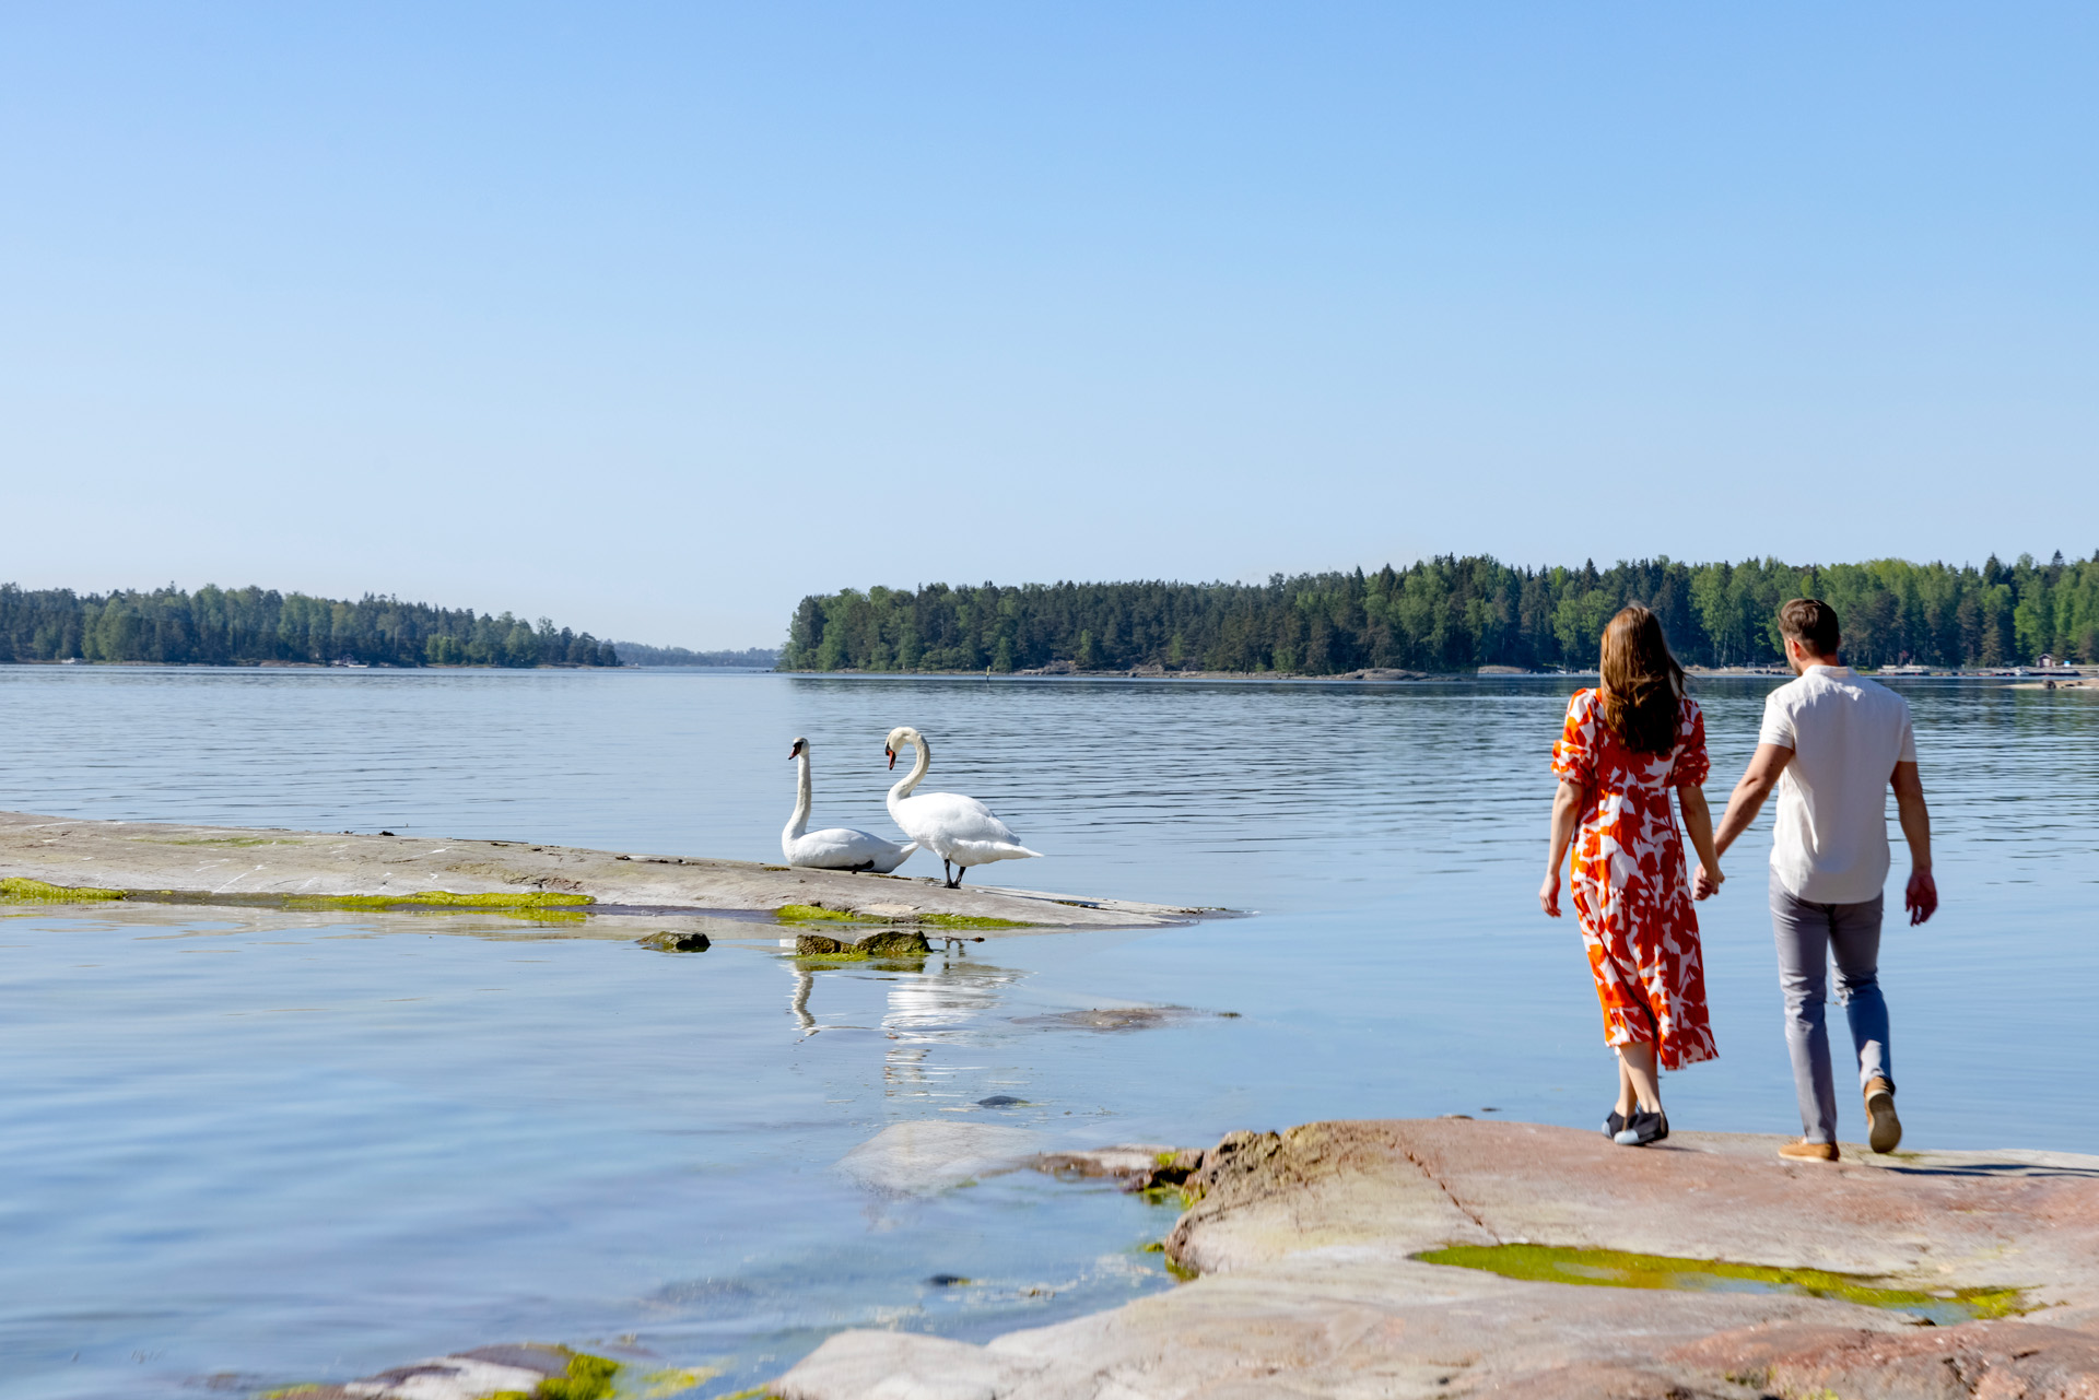
{"type": "Polygon", "coordinates": [[[1683,667],[1654,613],[1635,604],[1610,619],[1602,672],[1595,691],[1574,693],[1553,745],[1560,793],[1539,907],[1560,917],[1560,865],[1572,844],[1574,917],[1604,1005],[1604,1043],[1618,1052],[1618,1102],[1604,1136],[1648,1146],[1669,1136],[1658,1066],[1719,1054],[1669,789],[1698,850],[1698,898],[1723,875],[1702,787],[1704,716],[1683,693],[1683,667]]]}

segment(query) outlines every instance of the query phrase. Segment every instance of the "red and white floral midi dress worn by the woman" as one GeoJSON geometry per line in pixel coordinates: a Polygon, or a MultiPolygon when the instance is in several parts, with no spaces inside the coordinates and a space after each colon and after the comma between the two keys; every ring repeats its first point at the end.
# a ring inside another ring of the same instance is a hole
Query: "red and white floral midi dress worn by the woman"
{"type": "Polygon", "coordinates": [[[1698,915],[1685,879],[1671,787],[1702,785],[1704,716],[1683,697],[1677,747],[1635,754],[1604,722],[1595,691],[1576,691],[1553,745],[1553,772],[1581,785],[1574,913],[1604,1005],[1604,1043],[1656,1041],[1662,1068],[1719,1054],[1704,1005],[1698,915]]]}

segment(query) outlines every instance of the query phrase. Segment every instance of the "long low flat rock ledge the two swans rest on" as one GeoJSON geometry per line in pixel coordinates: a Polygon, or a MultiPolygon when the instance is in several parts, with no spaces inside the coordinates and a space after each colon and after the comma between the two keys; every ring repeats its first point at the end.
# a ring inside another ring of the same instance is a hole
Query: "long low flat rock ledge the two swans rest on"
{"type": "Polygon", "coordinates": [[[422,890],[443,890],[588,894],[615,911],[768,913],[787,905],[814,905],[869,919],[940,915],[1035,928],[1131,928],[1215,913],[993,886],[949,890],[926,877],[531,842],[76,821],[29,812],[0,812],[0,875],[229,905],[269,898],[407,898],[422,890]]]}

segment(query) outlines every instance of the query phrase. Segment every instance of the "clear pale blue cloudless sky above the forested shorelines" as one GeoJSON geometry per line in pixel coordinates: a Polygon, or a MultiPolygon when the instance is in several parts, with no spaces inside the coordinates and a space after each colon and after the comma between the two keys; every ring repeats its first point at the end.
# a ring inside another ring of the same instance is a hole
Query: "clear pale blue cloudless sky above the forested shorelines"
{"type": "Polygon", "coordinates": [[[17,4],[0,579],[2099,548],[2091,6],[17,4]]]}

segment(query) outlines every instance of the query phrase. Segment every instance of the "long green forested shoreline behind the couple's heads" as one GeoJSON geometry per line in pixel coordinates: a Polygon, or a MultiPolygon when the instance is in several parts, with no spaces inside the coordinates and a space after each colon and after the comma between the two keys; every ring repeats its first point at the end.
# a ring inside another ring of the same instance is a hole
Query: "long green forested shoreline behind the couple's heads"
{"type": "Polygon", "coordinates": [[[1486,556],[1377,573],[1280,573],[1268,584],[924,586],[808,596],[783,670],[1461,672],[1478,665],[1587,670],[1604,623],[1646,602],[1685,665],[1782,659],[1776,611],[1822,598],[1843,619],[1853,665],[2019,665],[2042,653],[2099,661],[2099,554],[2047,565],[1683,565],[1515,569],[1486,556]]]}

